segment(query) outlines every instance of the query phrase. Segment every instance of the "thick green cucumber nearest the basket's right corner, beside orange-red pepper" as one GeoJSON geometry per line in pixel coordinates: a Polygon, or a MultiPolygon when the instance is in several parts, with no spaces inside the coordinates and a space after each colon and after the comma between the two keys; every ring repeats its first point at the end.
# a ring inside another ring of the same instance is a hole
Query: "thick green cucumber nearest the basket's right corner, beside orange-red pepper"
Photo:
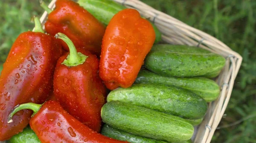
{"type": "Polygon", "coordinates": [[[225,62],[224,57],[197,47],[163,44],[152,47],[144,65],[162,76],[192,77],[215,73],[225,62]]]}

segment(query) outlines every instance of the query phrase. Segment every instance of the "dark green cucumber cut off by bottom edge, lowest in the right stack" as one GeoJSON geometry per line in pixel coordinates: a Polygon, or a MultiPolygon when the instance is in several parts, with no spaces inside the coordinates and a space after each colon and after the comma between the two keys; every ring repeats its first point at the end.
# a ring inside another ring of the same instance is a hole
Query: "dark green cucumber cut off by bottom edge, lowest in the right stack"
{"type": "Polygon", "coordinates": [[[113,128],[108,124],[103,125],[101,134],[116,140],[128,141],[129,143],[170,143],[165,140],[156,140],[148,137],[141,137],[139,135],[134,135],[134,134],[122,131],[120,129],[113,128]]]}

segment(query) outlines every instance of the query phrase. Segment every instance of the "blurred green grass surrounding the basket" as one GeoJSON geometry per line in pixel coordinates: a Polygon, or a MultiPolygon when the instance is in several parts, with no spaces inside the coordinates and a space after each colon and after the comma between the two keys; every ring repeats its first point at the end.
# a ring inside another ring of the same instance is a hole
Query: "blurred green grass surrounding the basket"
{"type": "MultiPolygon", "coordinates": [[[[39,0],[0,0],[0,65],[17,36],[32,30],[39,0]]],[[[44,0],[49,2],[50,0],[44,0]]],[[[256,0],[142,0],[217,37],[243,56],[225,118],[212,143],[256,143],[256,0]]]]}

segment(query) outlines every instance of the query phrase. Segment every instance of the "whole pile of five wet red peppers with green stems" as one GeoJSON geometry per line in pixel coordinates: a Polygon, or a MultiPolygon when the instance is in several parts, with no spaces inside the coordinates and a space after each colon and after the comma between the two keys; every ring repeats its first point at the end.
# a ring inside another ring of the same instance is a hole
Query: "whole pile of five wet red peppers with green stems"
{"type": "Polygon", "coordinates": [[[72,0],[57,0],[42,28],[20,34],[0,76],[0,141],[26,126],[41,143],[126,143],[99,134],[109,90],[134,83],[155,40],[134,9],[105,27],[72,0]]]}

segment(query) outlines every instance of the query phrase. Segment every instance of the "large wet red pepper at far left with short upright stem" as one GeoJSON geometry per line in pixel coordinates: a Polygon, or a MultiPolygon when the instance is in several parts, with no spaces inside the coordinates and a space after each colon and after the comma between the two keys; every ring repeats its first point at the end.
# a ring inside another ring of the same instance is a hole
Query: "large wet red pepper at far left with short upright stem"
{"type": "MultiPolygon", "coordinates": [[[[36,19],[36,27],[41,26],[36,19]]],[[[32,114],[29,110],[20,111],[13,117],[14,122],[7,124],[12,108],[27,102],[43,103],[52,91],[54,68],[62,48],[53,36],[42,32],[20,34],[3,64],[0,76],[1,141],[21,132],[32,114]]]]}

